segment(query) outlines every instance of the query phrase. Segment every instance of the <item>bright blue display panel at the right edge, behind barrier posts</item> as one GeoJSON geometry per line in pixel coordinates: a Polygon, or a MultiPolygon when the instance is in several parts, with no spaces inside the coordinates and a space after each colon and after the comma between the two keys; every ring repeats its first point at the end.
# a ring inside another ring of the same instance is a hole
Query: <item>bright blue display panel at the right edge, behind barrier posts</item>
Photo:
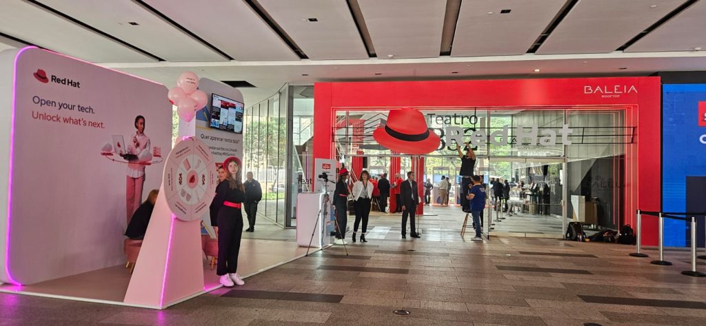
{"type": "MultiPolygon", "coordinates": [[[[702,212],[706,193],[706,84],[662,86],[662,211],[702,212]],[[693,182],[688,182],[692,180],[693,182]]],[[[697,218],[698,245],[704,243],[702,218],[697,218]]],[[[686,246],[688,222],[664,219],[664,246],[686,246]]]]}

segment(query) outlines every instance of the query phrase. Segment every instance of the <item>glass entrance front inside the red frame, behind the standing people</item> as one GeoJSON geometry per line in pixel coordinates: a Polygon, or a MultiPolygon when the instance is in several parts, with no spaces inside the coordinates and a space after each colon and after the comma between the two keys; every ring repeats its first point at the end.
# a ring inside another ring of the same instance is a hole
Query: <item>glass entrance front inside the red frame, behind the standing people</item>
{"type": "MultiPolygon", "coordinates": [[[[561,239],[573,220],[589,229],[618,229],[623,224],[626,151],[634,150],[635,133],[635,127],[626,124],[623,109],[419,111],[440,135],[436,151],[414,156],[390,152],[372,137],[388,111],[347,109],[335,115],[337,160],[352,170],[354,180],[363,169],[373,177],[387,173],[391,182],[395,174],[405,179],[407,171],[415,171],[420,188],[431,183],[431,203],[420,207],[419,213],[457,217],[460,227],[465,213],[460,207],[457,142],[470,141],[477,156],[474,174],[487,183],[483,225],[487,235],[561,239]],[[442,176],[452,185],[448,206],[441,203],[442,176]]],[[[395,207],[392,197],[390,205],[395,207]]]]}

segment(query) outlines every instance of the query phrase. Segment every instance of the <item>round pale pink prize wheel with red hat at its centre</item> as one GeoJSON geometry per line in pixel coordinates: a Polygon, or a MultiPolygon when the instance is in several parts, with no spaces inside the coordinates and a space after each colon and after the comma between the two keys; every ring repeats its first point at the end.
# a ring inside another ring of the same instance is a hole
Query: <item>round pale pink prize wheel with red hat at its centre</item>
{"type": "Polygon", "coordinates": [[[218,176],[208,146],[200,140],[181,140],[164,167],[164,196],[169,209],[182,221],[201,219],[215,194],[218,176]]]}

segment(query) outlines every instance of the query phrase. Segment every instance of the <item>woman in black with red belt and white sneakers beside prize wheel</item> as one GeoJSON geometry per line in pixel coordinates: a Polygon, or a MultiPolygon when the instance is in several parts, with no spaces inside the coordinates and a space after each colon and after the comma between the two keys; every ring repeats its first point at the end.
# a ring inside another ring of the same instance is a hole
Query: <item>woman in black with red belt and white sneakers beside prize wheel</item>
{"type": "Polygon", "coordinates": [[[234,174],[225,170],[226,178],[218,183],[216,195],[210,205],[211,225],[218,227],[218,265],[216,274],[220,284],[233,286],[245,282],[237,274],[240,239],[243,235],[243,212],[241,205],[245,201],[245,187],[240,176],[240,159],[229,157],[223,162],[224,167],[236,163],[234,174]]]}

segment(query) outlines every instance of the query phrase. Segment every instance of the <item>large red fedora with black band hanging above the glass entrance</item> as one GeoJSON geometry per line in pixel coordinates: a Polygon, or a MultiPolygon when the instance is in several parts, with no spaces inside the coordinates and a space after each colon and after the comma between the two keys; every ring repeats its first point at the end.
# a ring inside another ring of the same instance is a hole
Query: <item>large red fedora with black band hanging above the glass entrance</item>
{"type": "Polygon", "coordinates": [[[373,132],[380,145],[405,154],[428,154],[439,147],[439,136],[429,130],[421,112],[402,108],[390,110],[385,126],[373,132]]]}

